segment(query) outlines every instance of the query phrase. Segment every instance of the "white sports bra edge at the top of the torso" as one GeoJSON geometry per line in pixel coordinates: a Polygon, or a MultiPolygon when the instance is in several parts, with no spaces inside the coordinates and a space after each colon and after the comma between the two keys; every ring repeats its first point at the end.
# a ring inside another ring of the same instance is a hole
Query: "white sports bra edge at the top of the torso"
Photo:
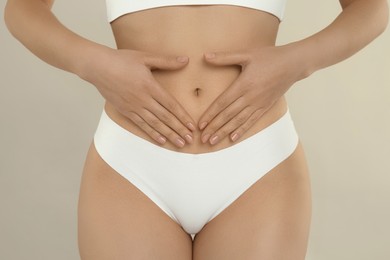
{"type": "Polygon", "coordinates": [[[106,0],[106,6],[107,18],[109,22],[114,21],[119,16],[124,14],[173,5],[236,5],[265,11],[275,15],[277,18],[279,18],[279,20],[282,20],[286,1],[287,0],[106,0]]]}

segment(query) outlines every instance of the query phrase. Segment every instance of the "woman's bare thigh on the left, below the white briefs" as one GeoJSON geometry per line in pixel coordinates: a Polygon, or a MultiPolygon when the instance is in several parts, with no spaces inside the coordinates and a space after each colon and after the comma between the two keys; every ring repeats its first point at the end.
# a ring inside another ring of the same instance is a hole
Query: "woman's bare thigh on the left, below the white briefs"
{"type": "Polygon", "coordinates": [[[78,208],[83,260],[191,259],[183,229],[96,152],[87,155],[78,208]]]}

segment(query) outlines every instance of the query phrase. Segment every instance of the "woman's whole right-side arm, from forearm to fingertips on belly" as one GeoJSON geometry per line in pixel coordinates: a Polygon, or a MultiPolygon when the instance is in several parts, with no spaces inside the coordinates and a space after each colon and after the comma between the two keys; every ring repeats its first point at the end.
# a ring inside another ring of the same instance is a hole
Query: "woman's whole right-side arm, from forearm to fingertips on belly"
{"type": "Polygon", "coordinates": [[[388,23],[386,0],[340,0],[343,11],[322,31],[284,46],[217,52],[205,61],[242,73],[199,120],[202,141],[242,136],[296,82],[369,44],[388,23]]]}

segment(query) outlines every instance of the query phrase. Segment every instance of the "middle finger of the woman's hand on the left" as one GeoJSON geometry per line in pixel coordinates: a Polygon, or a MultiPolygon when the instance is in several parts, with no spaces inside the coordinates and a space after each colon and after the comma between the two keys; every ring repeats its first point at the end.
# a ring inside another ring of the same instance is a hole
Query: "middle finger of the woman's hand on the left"
{"type": "Polygon", "coordinates": [[[165,107],[161,106],[156,100],[154,104],[149,106],[148,110],[152,112],[161,122],[170,128],[170,131],[175,131],[188,143],[192,143],[193,136],[191,131],[177,119],[175,115],[170,113],[165,107]]]}

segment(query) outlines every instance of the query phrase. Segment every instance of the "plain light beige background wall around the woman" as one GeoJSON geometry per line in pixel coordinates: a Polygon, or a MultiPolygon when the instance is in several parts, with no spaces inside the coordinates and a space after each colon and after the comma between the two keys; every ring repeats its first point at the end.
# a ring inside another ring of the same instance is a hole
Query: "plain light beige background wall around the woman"
{"type": "MultiPolygon", "coordinates": [[[[1,0],[3,9],[5,0],[1,0]]],[[[57,0],[77,33],[114,46],[104,1],[57,0]]],[[[279,43],[326,26],[338,1],[291,0],[279,43]]],[[[312,175],[308,260],[390,259],[390,29],[288,93],[312,175]]],[[[73,260],[81,170],[103,99],[0,24],[0,259],[73,260]]]]}

